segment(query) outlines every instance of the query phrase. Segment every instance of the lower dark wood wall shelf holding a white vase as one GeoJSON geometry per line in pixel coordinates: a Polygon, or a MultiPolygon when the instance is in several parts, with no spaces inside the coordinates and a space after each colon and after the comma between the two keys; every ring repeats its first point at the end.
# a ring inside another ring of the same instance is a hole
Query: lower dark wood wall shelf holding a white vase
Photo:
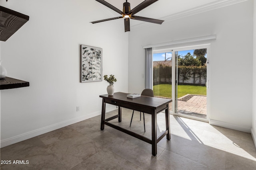
{"type": "Polygon", "coordinates": [[[10,89],[10,88],[20,88],[20,87],[28,87],[29,82],[18,80],[15,78],[6,77],[0,79],[0,90],[10,89]]]}

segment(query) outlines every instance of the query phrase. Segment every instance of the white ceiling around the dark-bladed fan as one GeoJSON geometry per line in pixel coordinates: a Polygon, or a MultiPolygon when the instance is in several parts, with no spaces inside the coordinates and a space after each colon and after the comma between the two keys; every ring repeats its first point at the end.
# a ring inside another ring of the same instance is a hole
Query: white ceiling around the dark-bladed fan
{"type": "MultiPolygon", "coordinates": [[[[126,0],[105,0],[109,4],[115,6],[119,10],[122,11],[123,3],[126,2],[126,0]]],[[[140,3],[142,3],[144,0],[128,0],[130,3],[131,9],[138,6],[140,3]]],[[[147,18],[154,18],[154,19],[162,19],[166,16],[171,16],[173,14],[177,14],[179,12],[186,12],[191,9],[198,9],[198,7],[210,7],[210,6],[226,6],[228,4],[234,4],[238,2],[242,2],[244,0],[158,0],[148,6],[147,8],[144,8],[140,12],[136,13],[136,16],[142,16],[147,18]]],[[[96,2],[99,3],[99,2],[96,2]]],[[[102,5],[99,3],[99,5],[102,5]]],[[[103,7],[104,5],[102,5],[103,7]]],[[[110,8],[104,6],[106,10],[108,10],[108,16],[102,18],[97,18],[96,20],[102,20],[107,18],[113,18],[118,17],[120,14],[115,12],[114,10],[111,10],[110,8]]],[[[112,20],[116,21],[116,20],[112,20]]],[[[110,22],[110,21],[106,21],[110,22]]],[[[140,23],[144,23],[144,21],[138,21],[138,20],[132,20],[130,21],[130,25],[134,26],[140,23]]]]}

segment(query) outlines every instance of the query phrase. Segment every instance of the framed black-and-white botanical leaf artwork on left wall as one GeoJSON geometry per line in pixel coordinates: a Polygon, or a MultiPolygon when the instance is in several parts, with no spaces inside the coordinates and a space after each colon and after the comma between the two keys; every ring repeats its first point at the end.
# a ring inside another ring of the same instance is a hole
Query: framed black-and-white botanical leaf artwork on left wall
{"type": "Polygon", "coordinates": [[[81,45],[81,82],[102,81],[102,49],[81,45]]]}

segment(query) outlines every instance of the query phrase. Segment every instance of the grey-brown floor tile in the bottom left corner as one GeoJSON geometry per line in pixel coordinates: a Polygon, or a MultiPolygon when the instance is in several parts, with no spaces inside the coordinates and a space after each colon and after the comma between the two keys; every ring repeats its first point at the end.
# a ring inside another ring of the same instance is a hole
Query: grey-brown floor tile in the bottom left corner
{"type": "Polygon", "coordinates": [[[1,160],[12,161],[12,164],[1,164],[2,170],[68,170],[68,167],[38,137],[2,148],[1,160]],[[16,160],[23,160],[23,162],[22,164],[14,164],[13,161],[16,162],[16,160]]]}

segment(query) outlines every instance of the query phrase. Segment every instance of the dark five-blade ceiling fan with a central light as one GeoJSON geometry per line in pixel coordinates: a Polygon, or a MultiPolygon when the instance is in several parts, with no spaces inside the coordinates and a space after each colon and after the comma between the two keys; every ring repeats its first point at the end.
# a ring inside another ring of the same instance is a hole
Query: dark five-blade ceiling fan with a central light
{"type": "Polygon", "coordinates": [[[98,22],[103,22],[103,21],[110,21],[110,20],[116,20],[116,19],[119,19],[119,18],[124,18],[124,32],[126,32],[126,31],[130,31],[130,19],[152,22],[152,23],[157,23],[157,24],[162,24],[162,22],[163,22],[163,20],[156,20],[156,19],[153,19],[153,18],[134,16],[134,14],[136,14],[137,12],[140,12],[141,10],[150,6],[151,4],[153,4],[154,2],[156,2],[158,0],[145,0],[141,4],[139,4],[138,6],[133,8],[132,10],[130,10],[130,3],[127,2],[127,0],[126,0],[126,2],[124,2],[124,4],[123,4],[123,11],[118,10],[116,7],[112,6],[111,4],[109,4],[108,2],[106,2],[104,0],[96,0],[96,1],[98,1],[101,4],[107,6],[108,8],[118,12],[122,16],[115,17],[115,18],[108,18],[108,19],[105,19],[105,20],[93,21],[91,23],[98,23],[98,22]]]}

